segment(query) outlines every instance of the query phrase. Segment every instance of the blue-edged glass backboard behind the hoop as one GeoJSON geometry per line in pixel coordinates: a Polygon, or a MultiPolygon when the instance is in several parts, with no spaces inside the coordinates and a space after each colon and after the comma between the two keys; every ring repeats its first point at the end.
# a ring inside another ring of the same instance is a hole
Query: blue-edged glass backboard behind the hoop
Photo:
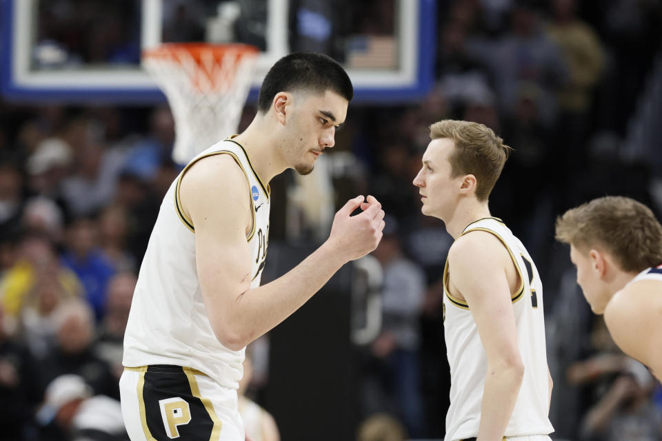
{"type": "Polygon", "coordinates": [[[412,101],[432,85],[434,0],[0,1],[0,86],[12,101],[163,101],[140,54],[168,41],[257,45],[249,101],[295,50],[341,62],[359,103],[412,101]]]}

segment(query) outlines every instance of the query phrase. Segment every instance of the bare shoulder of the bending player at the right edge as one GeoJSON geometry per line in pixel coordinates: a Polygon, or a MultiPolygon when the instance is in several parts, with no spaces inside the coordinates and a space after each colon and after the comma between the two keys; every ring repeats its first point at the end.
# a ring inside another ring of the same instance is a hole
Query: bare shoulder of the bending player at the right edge
{"type": "Polygon", "coordinates": [[[614,294],[605,309],[605,324],[616,345],[648,366],[662,381],[662,305],[659,282],[640,280],[614,294]],[[634,325],[636,324],[636,325],[634,325]]]}

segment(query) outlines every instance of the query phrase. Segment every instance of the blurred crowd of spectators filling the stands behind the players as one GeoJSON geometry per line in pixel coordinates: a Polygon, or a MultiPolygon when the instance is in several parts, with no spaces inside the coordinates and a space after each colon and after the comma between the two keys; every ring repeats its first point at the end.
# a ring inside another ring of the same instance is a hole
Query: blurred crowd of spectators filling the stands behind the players
{"type": "MultiPolygon", "coordinates": [[[[388,2],[365,3],[381,10],[388,2]]],[[[452,238],[420,214],[411,182],[428,125],[453,118],[484,123],[515,149],[490,208],[528,247],[545,287],[555,439],[661,439],[660,385],[593,318],[553,225],[568,207],[605,194],[662,207],[652,191],[662,170],[623,152],[659,57],[662,2],[437,3],[428,96],[350,105],[314,174],[272,182],[272,241],[323,240],[334,208],[356,194],[373,194],[389,215],[374,252],[383,326],[362,349],[368,420],[358,438],[443,437],[450,384],[441,275],[452,238]]],[[[393,23],[389,14],[383,8],[379,17],[393,23]]],[[[240,130],[253,114],[248,105],[240,130]]],[[[90,431],[122,439],[123,331],[163,194],[181,170],[170,159],[172,115],[165,105],[0,101],[0,121],[0,432],[7,440],[90,431]]]]}

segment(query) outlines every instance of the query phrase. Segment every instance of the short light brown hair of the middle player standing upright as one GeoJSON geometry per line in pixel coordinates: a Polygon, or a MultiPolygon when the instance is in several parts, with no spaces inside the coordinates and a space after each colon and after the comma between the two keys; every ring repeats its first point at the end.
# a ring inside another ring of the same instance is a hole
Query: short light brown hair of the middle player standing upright
{"type": "Polygon", "coordinates": [[[476,176],[476,197],[479,201],[487,201],[512,148],[505,145],[490,127],[470,121],[445,119],[434,123],[430,125],[430,138],[454,141],[454,151],[448,158],[452,177],[476,176]]]}

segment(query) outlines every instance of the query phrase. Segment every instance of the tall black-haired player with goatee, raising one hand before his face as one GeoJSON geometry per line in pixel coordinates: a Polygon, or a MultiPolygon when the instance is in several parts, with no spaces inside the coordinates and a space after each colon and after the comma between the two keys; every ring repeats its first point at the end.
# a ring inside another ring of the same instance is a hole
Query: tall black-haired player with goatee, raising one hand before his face
{"type": "Polygon", "coordinates": [[[345,121],[352,83],[325,55],[294,53],[265,76],[258,112],[238,136],[194,158],[163,199],[141,265],[120,380],[133,441],[243,440],[237,387],[244,350],[312,297],[345,263],[372,252],[384,227],[372,196],[337,212],[328,240],[260,285],[269,181],[312,171],[345,121]],[[363,212],[350,216],[354,209],[363,212]]]}

